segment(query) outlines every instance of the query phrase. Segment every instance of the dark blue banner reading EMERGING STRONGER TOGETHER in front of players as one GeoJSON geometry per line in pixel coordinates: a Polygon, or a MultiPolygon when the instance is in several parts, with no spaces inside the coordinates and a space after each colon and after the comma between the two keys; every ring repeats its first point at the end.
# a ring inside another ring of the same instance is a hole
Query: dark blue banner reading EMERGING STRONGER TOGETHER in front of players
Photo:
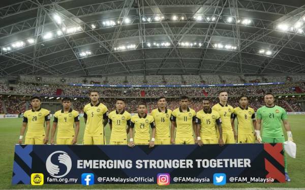
{"type": "Polygon", "coordinates": [[[285,182],[283,146],[16,145],[13,184],[285,182]]]}

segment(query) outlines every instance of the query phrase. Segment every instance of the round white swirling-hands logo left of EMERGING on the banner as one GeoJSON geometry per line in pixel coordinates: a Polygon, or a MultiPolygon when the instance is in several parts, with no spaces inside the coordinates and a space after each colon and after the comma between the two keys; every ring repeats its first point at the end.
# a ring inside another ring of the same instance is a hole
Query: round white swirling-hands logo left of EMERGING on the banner
{"type": "Polygon", "coordinates": [[[60,178],[66,176],[72,168],[72,160],[65,151],[54,151],[46,161],[50,176],[60,178]]]}

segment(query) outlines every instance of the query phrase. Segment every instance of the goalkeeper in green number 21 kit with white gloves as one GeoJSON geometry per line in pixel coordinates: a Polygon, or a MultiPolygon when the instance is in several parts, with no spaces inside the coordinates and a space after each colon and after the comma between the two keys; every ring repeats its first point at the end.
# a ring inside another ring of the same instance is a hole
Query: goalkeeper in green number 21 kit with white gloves
{"type": "MultiPolygon", "coordinates": [[[[287,132],[288,141],[292,139],[290,125],[287,120],[287,113],[284,108],[275,105],[275,98],[273,94],[267,93],[264,96],[265,106],[260,107],[256,113],[256,139],[258,142],[266,143],[284,143],[285,137],[282,128],[282,121],[287,132]],[[261,122],[263,122],[263,133],[260,136],[261,122]]],[[[291,181],[287,173],[286,155],[284,155],[285,162],[285,180],[291,181]]]]}

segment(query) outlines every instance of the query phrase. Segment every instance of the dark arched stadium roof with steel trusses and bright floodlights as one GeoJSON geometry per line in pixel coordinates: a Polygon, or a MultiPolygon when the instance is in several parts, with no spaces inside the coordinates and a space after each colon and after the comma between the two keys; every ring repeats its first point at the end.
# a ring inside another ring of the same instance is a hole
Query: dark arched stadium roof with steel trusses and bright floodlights
{"type": "Polygon", "coordinates": [[[304,0],[0,6],[1,76],[305,72],[304,0]]]}

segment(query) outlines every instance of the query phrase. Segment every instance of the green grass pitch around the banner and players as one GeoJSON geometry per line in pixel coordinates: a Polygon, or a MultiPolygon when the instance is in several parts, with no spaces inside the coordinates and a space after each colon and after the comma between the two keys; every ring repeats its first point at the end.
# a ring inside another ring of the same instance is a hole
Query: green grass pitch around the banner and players
{"type": "MultiPolygon", "coordinates": [[[[82,185],[11,185],[12,180],[12,168],[14,159],[14,145],[18,142],[19,131],[22,120],[18,119],[0,119],[0,188],[5,189],[24,189],[24,188],[84,188],[82,185]]],[[[291,177],[289,183],[235,183],[226,184],[221,188],[275,188],[275,187],[293,187],[300,188],[305,187],[305,179],[303,178],[303,172],[305,171],[305,116],[289,116],[289,122],[292,128],[292,134],[294,141],[297,144],[297,158],[292,159],[288,157],[288,172],[291,177]]],[[[84,122],[81,118],[81,130],[78,138],[78,143],[82,143],[82,136],[84,131],[84,122]]],[[[110,130],[106,127],[107,143],[109,142],[110,130]]],[[[149,185],[134,185],[134,184],[105,184],[105,185],[92,185],[86,188],[215,188],[213,184],[170,184],[168,186],[158,186],[157,184],[149,185]]],[[[217,186],[219,187],[219,186],[217,186]]]]}

